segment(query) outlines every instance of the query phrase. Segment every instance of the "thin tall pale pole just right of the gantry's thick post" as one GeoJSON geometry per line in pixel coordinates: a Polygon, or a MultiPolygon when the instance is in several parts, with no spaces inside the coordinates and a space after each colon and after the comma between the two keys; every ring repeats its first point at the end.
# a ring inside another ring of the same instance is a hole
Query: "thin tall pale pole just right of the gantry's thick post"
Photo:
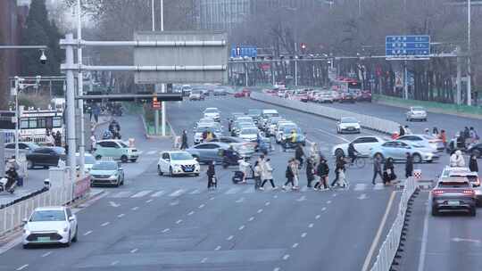
{"type": "MultiPolygon", "coordinates": [[[[80,40],[82,40],[82,20],[81,20],[81,6],[80,0],[77,0],[77,40],[79,41],[79,47],[77,48],[77,61],[79,62],[79,67],[82,65],[82,46],[80,46],[80,40]]],[[[84,76],[82,71],[79,70],[77,75],[77,83],[78,86],[78,94],[84,94],[84,76]]],[[[84,177],[85,174],[85,155],[86,155],[86,142],[85,142],[85,123],[84,123],[84,100],[79,99],[79,115],[80,115],[80,144],[79,144],[79,169],[80,169],[80,177],[84,177]]],[[[75,168],[71,168],[71,170],[75,170],[75,168]]]]}

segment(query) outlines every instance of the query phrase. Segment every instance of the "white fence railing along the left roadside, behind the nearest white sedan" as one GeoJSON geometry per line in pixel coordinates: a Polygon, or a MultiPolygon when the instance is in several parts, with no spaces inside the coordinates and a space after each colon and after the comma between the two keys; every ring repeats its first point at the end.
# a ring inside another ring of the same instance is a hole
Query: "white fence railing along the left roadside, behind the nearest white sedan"
{"type": "Polygon", "coordinates": [[[28,218],[32,211],[38,207],[59,206],[67,204],[89,192],[90,178],[66,182],[64,185],[55,186],[39,193],[25,201],[0,209],[0,236],[22,225],[23,218],[28,218]]]}

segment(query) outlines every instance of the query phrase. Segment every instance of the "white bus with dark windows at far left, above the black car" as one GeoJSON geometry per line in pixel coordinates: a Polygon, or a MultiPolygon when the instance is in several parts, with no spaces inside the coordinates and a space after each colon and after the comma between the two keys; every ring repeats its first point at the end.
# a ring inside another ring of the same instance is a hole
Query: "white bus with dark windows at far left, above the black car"
{"type": "MultiPolygon", "coordinates": [[[[3,129],[5,143],[15,140],[15,112],[0,111],[0,129],[3,129]]],[[[22,111],[19,125],[19,141],[44,144],[46,131],[60,132],[64,135],[63,111],[61,110],[29,110],[22,111]]]]}

